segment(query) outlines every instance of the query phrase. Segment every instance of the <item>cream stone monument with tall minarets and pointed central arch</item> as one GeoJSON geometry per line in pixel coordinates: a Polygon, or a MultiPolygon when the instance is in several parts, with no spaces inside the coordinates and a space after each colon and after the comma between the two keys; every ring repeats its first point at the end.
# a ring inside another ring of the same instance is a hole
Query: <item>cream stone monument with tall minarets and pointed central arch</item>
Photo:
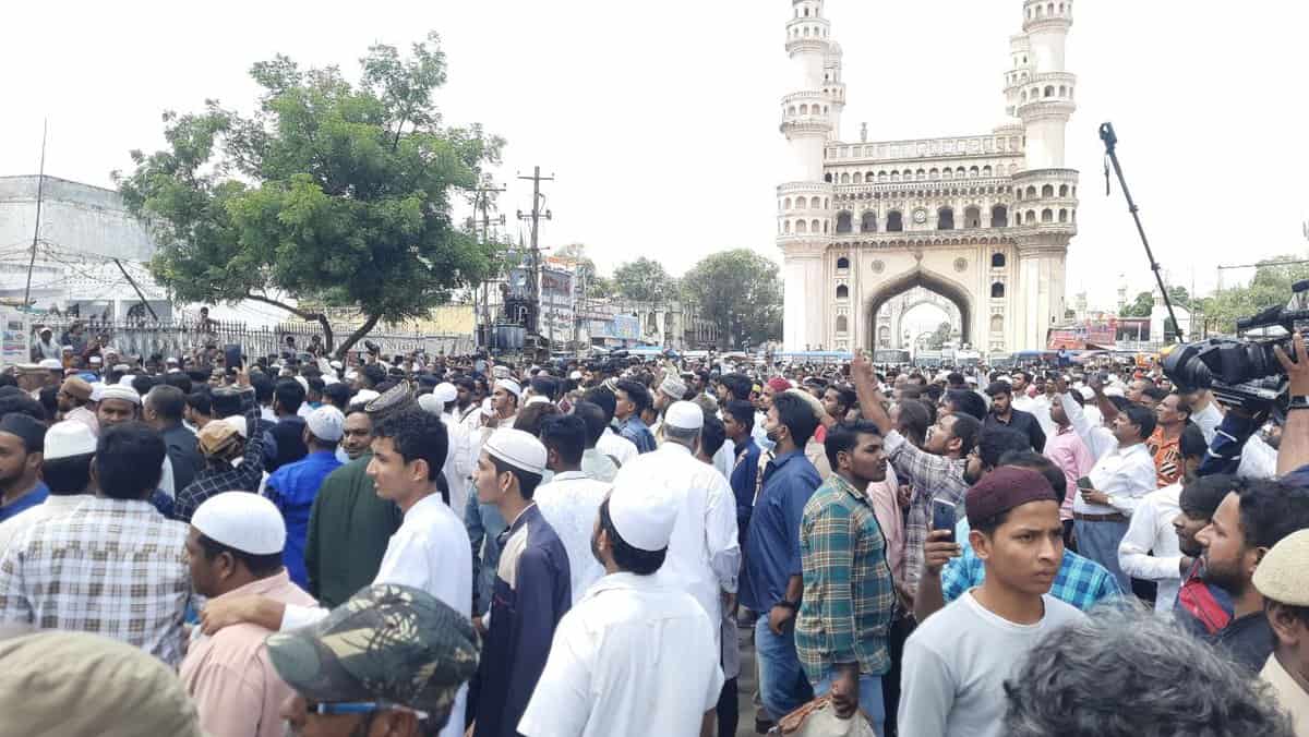
{"type": "Polygon", "coordinates": [[[787,51],[801,89],[783,98],[784,347],[878,347],[878,312],[914,289],[952,304],[962,342],[978,350],[1045,347],[1064,313],[1077,232],[1077,171],[1064,165],[1072,1],[1024,1],[1004,75],[1007,123],[980,136],[857,143],[840,140],[842,51],[823,0],[792,5],[787,51]]]}

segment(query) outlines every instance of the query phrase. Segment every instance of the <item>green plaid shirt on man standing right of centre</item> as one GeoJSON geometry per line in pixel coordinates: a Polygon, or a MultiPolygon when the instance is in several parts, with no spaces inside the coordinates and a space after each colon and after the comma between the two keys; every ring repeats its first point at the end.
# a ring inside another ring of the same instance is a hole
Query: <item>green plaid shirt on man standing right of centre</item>
{"type": "Polygon", "coordinates": [[[895,613],[886,538],[868,496],[838,474],[805,504],[800,558],[805,593],[796,652],[805,675],[817,683],[847,662],[859,662],[865,675],[886,674],[886,634],[895,613]]]}

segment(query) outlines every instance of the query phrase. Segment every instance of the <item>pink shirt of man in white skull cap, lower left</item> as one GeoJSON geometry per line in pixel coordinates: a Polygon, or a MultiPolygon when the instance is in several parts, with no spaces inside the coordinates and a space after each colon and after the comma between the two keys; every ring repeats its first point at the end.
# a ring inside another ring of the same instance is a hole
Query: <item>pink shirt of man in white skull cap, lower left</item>
{"type": "MultiPolygon", "coordinates": [[[[300,606],[317,603],[291,583],[285,568],[213,601],[250,594],[300,606]]],[[[211,737],[281,737],[285,733],[278,711],[292,690],[278,677],[263,647],[270,634],[257,624],[236,624],[191,643],[179,675],[200,713],[200,729],[211,737]]]]}

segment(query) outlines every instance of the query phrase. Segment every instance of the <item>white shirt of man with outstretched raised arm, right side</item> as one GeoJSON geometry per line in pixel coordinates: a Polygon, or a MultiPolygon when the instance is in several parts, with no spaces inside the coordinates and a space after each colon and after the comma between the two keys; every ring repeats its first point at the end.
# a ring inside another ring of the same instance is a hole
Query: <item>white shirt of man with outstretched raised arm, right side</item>
{"type": "Polygon", "coordinates": [[[1093,427],[1077,402],[1060,397],[1064,412],[1077,436],[1086,444],[1096,466],[1086,474],[1096,491],[1109,495],[1110,505],[1090,504],[1079,494],[1072,503],[1075,513],[1081,514],[1131,514],[1141,499],[1158,488],[1158,473],[1155,458],[1144,442],[1127,449],[1118,446],[1118,439],[1105,427],[1093,427]]]}

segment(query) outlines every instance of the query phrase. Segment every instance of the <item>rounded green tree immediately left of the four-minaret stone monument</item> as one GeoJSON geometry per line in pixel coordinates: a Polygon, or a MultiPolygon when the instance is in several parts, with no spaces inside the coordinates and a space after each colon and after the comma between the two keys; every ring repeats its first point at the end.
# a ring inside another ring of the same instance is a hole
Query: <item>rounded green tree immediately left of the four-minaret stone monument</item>
{"type": "Polygon", "coordinates": [[[717,326],[720,348],[781,339],[781,280],[772,261],[749,249],[711,254],[682,287],[700,317],[717,326]]]}

